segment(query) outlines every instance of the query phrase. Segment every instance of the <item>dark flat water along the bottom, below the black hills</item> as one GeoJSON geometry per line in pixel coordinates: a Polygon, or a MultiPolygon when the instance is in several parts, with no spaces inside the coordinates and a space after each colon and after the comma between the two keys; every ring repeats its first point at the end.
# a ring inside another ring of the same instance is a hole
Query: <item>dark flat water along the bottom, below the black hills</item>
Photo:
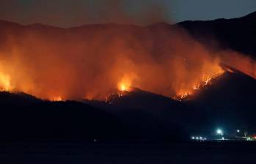
{"type": "Polygon", "coordinates": [[[256,163],[254,142],[1,143],[0,163],[256,163]]]}

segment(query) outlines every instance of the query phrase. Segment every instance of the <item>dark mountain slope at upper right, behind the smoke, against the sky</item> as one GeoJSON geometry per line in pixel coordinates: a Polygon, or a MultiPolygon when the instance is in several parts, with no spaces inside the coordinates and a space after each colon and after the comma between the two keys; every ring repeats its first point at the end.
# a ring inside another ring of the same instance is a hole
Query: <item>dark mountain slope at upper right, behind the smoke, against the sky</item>
{"type": "Polygon", "coordinates": [[[194,39],[218,49],[233,49],[256,58],[256,12],[242,18],[184,21],[181,26],[194,39]],[[214,40],[214,41],[211,41],[214,40]]]}

